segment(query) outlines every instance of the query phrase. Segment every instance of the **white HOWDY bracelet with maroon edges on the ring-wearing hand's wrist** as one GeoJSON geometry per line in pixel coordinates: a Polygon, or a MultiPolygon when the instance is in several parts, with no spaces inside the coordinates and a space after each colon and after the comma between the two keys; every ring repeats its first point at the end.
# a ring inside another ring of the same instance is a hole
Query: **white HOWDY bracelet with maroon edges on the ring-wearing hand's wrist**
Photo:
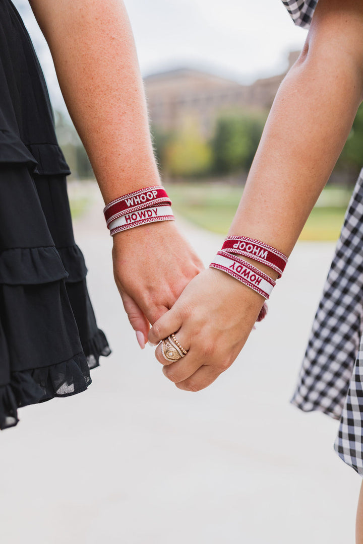
{"type": "Polygon", "coordinates": [[[265,299],[269,298],[272,289],[276,285],[271,277],[254,267],[253,264],[223,250],[218,251],[210,267],[230,274],[230,276],[235,277],[236,280],[241,281],[256,293],[260,293],[265,299]]]}

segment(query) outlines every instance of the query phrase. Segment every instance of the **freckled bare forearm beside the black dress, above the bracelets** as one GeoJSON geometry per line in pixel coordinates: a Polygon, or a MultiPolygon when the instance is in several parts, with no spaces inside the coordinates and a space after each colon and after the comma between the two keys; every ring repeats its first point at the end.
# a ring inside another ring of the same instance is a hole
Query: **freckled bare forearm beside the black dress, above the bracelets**
{"type": "Polygon", "coordinates": [[[121,0],[30,0],[106,202],[160,183],[121,0]]]}

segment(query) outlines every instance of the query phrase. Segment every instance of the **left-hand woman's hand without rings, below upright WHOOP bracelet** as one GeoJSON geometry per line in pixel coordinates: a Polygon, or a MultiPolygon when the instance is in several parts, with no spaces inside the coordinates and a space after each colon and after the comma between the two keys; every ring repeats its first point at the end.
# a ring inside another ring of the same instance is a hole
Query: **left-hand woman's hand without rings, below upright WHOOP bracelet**
{"type": "Polygon", "coordinates": [[[204,267],[174,221],[115,234],[112,257],[115,282],[128,319],[144,347],[149,323],[155,323],[174,305],[204,267]]]}

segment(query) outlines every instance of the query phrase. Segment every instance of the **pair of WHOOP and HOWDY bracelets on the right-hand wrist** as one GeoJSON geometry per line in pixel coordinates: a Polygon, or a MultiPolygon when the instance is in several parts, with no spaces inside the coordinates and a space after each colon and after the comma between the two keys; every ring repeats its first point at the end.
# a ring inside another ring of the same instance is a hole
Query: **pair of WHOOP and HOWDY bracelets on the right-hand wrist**
{"type": "Polygon", "coordinates": [[[281,251],[259,242],[259,240],[245,236],[227,236],[222,250],[218,251],[216,258],[210,264],[211,268],[226,272],[256,291],[256,293],[260,293],[265,299],[268,299],[276,282],[254,267],[253,264],[233,254],[243,255],[266,264],[269,268],[275,270],[279,277],[281,277],[286,267],[287,257],[281,251]]]}

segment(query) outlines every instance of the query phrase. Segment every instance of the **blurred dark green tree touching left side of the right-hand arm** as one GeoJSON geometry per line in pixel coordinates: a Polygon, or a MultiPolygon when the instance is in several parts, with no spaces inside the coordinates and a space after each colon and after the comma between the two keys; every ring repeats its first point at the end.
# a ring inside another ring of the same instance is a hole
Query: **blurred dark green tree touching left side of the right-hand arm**
{"type": "Polygon", "coordinates": [[[266,114],[235,114],[217,121],[211,142],[216,174],[247,171],[261,138],[266,114]]]}

